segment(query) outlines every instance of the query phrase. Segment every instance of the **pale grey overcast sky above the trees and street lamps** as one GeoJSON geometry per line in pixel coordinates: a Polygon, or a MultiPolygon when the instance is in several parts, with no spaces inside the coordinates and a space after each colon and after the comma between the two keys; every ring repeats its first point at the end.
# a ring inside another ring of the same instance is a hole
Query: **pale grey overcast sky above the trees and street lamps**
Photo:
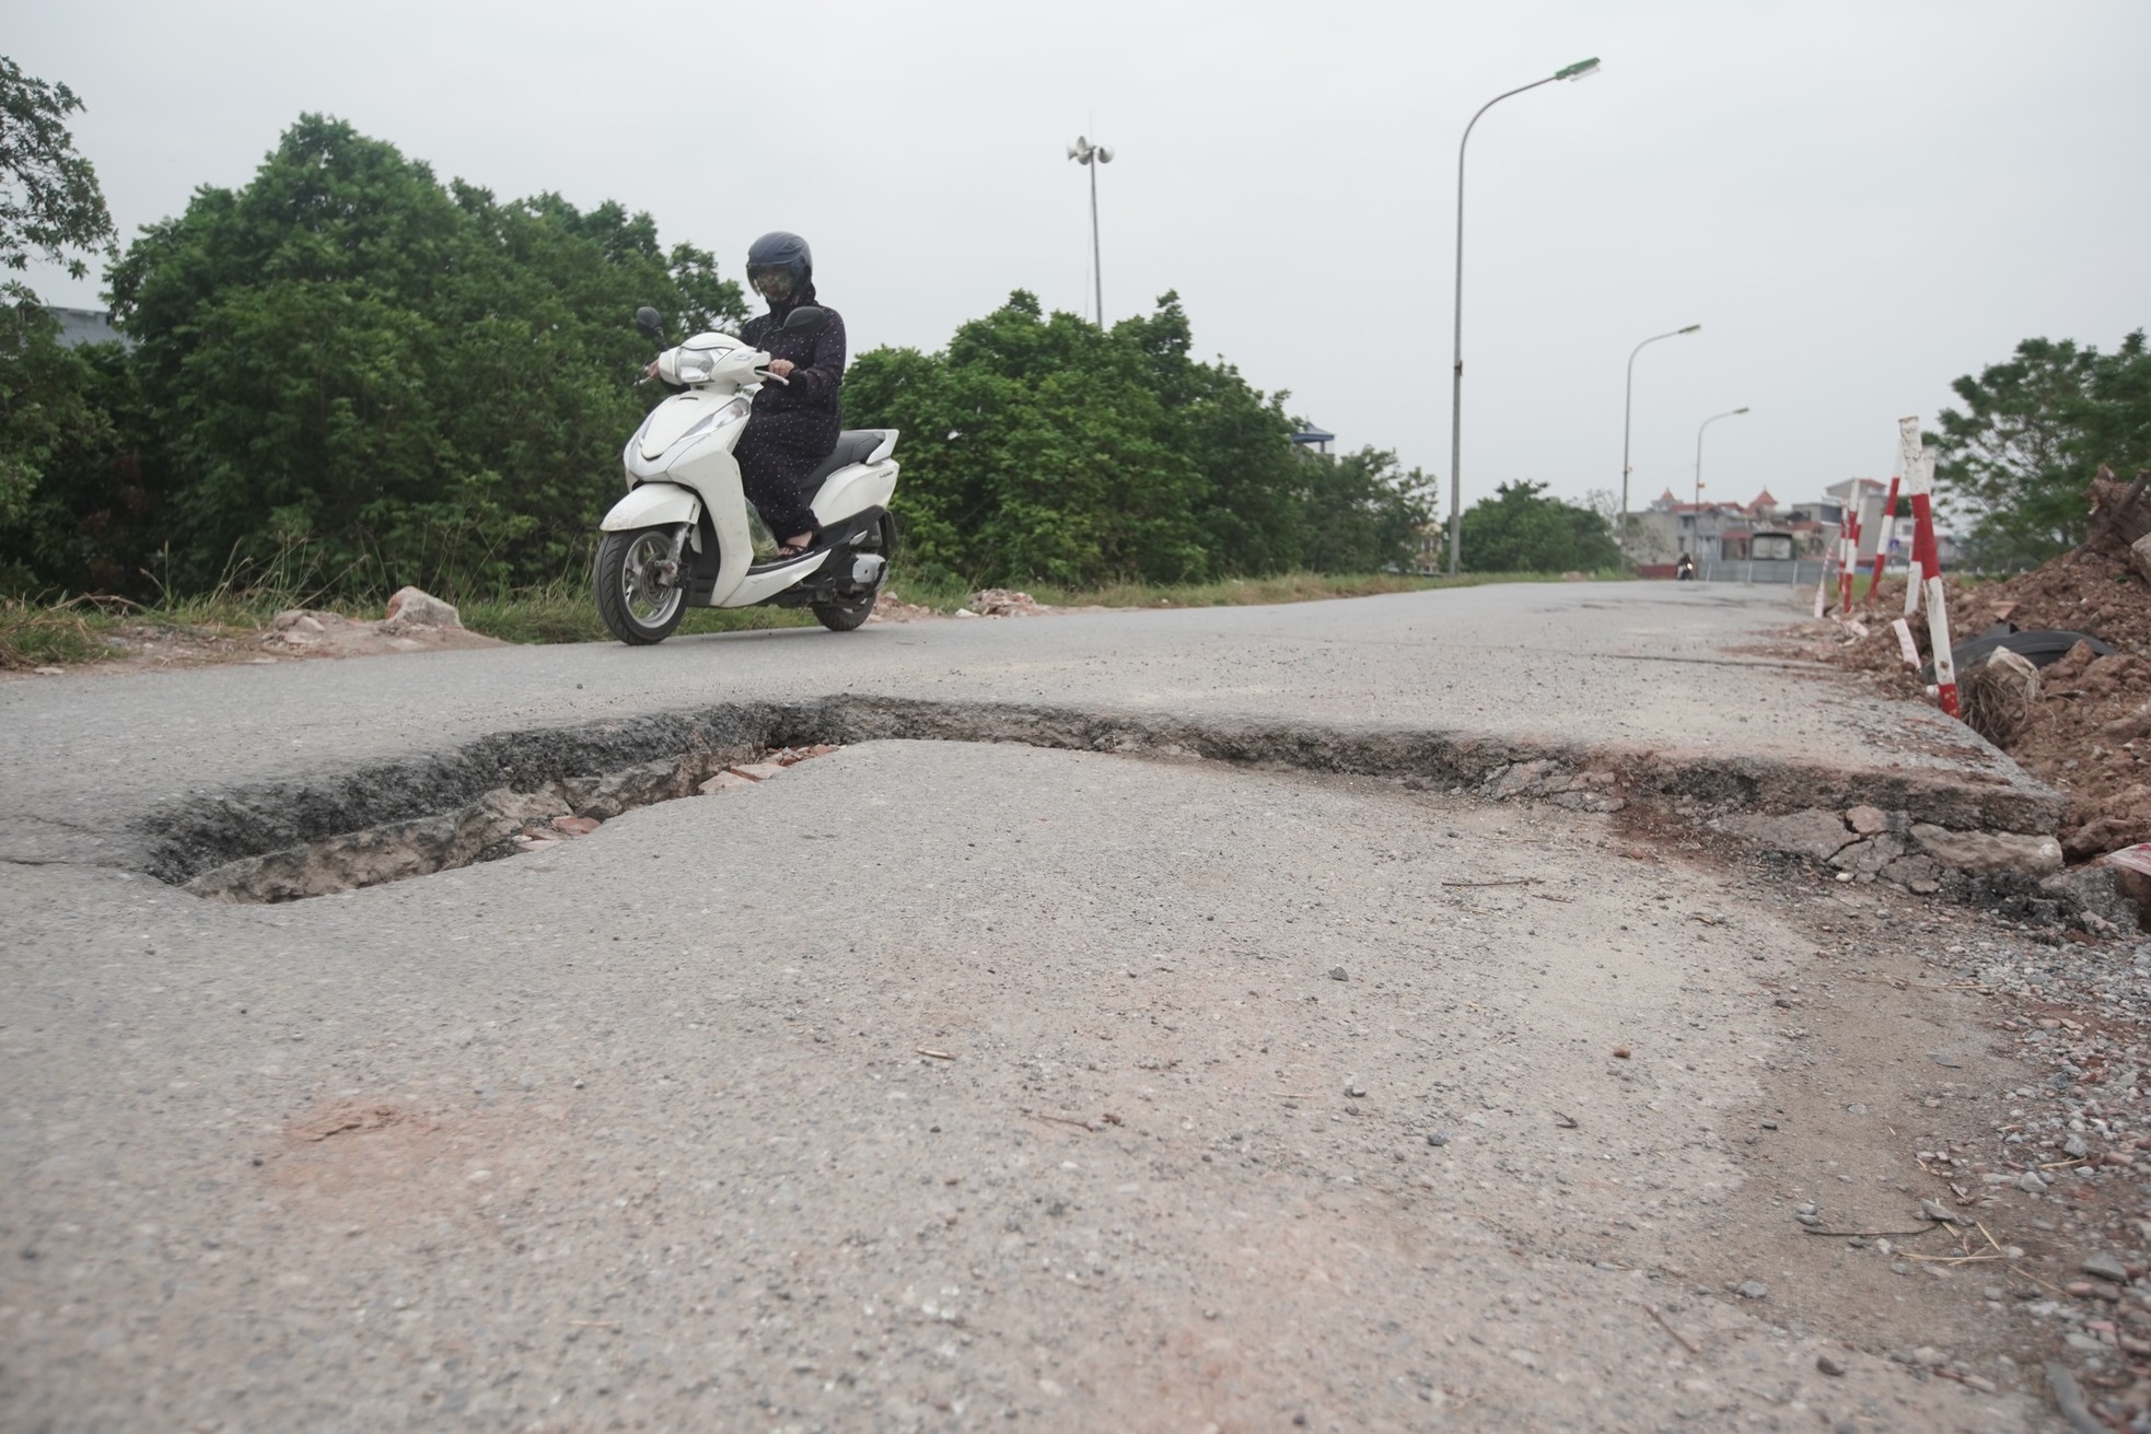
{"type": "MultiPolygon", "coordinates": [[[[4,45],[86,101],[123,236],[243,185],[301,112],[495,193],[656,215],[738,277],[807,234],[854,350],[940,348],[1030,288],[1181,292],[1344,447],[1448,490],[1456,142],[1471,135],[1465,503],[1536,477],[1710,497],[1886,477],[1899,415],[2022,338],[2151,322],[2147,0],[374,0],[32,4],[4,45]]],[[[54,303],[97,282],[41,271],[54,303]]]]}

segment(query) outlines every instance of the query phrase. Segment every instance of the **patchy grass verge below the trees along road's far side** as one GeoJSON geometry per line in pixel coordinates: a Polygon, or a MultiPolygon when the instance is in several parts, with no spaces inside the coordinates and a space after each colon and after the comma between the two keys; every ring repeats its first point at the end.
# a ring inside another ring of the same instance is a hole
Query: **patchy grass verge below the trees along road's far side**
{"type": "MultiPolygon", "coordinates": [[[[1620,572],[1592,574],[1596,580],[1624,578],[1620,572]]],[[[1370,598],[1377,593],[1415,593],[1437,587],[1476,587],[1482,583],[1555,583],[1553,574],[1534,572],[1469,572],[1458,578],[1420,574],[1334,574],[1286,572],[1267,578],[1226,578],[1220,583],[1108,583],[1103,587],[1030,587],[1032,598],[1058,608],[1202,608],[1258,606],[1273,602],[1319,602],[1325,598],[1370,598]]],[[[946,574],[914,574],[897,563],[888,591],[901,602],[934,613],[955,613],[968,606],[974,587],[946,574]]],[[[32,666],[71,666],[123,658],[131,636],[142,630],[237,639],[245,643],[269,628],[277,613],[312,608],[342,617],[381,617],[385,598],[329,598],[320,591],[297,591],[282,583],[260,587],[219,585],[215,591],[181,598],[168,596],[153,606],[125,598],[0,598],[0,671],[32,666]]],[[[518,587],[458,602],[462,626],[497,636],[503,643],[604,643],[611,634],[598,619],[585,578],[561,576],[538,587],[518,587]]],[[[813,613],[804,608],[693,608],[682,621],[682,634],[753,632],[764,628],[811,628],[813,613]]]]}

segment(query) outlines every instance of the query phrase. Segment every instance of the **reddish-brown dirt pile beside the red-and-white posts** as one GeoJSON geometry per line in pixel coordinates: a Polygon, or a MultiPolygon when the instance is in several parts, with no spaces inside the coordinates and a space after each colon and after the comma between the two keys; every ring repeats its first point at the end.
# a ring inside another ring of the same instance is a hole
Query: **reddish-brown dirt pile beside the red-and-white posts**
{"type": "MultiPolygon", "coordinates": [[[[2069,795],[2061,845],[2071,862],[2151,841],[2151,583],[2129,561],[2129,542],[2151,516],[2140,488],[2093,484],[2093,537],[2076,553],[2005,583],[1945,574],[1953,643],[1996,623],[2061,628],[2095,636],[2110,656],[2076,645],[2037,673],[2037,692],[1988,740],[2018,765],[2069,795]]],[[[1865,636],[1824,645],[1828,660],[1871,673],[1901,697],[1925,697],[1904,660],[1891,619],[1904,613],[1904,583],[1884,580],[1861,615],[1865,636]]],[[[1927,617],[1910,621],[1919,660],[1929,662],[1927,617]]],[[[1843,630],[1839,630],[1843,632],[1843,630]]],[[[1977,673],[1957,673],[1960,684],[1977,673]]]]}

